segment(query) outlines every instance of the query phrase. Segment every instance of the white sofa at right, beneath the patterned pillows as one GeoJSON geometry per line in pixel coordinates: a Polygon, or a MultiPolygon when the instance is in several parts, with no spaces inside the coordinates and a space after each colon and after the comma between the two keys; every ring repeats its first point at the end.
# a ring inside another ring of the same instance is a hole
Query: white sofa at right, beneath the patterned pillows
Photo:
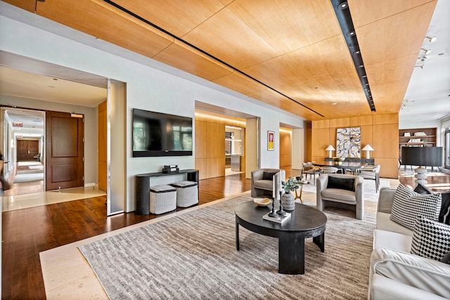
{"type": "Polygon", "coordinates": [[[390,220],[394,195],[380,189],[368,299],[450,299],[450,265],[410,253],[413,231],[390,220]]]}

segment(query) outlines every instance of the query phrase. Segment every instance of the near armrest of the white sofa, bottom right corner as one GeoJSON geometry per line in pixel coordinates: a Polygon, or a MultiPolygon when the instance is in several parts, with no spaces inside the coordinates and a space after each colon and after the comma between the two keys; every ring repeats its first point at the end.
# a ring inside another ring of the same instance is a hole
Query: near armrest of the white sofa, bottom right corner
{"type": "Polygon", "coordinates": [[[450,265],[446,263],[392,249],[376,248],[371,255],[369,282],[373,282],[375,274],[450,298],[450,265]]]}

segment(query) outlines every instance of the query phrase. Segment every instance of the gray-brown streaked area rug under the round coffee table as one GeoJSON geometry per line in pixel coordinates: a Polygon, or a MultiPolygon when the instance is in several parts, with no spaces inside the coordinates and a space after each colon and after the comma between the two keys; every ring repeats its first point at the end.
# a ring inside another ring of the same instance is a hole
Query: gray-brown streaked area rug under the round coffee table
{"type": "Polygon", "coordinates": [[[305,274],[278,273],[278,240],[212,204],[79,247],[110,299],[366,299],[375,216],[326,209],[325,252],[305,243],[305,274]]]}

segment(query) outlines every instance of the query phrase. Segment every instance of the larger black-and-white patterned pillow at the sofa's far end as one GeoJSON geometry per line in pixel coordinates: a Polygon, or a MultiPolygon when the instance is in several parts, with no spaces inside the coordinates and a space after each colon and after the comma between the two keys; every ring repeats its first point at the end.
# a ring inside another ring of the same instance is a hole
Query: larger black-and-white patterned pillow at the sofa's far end
{"type": "Polygon", "coordinates": [[[441,208],[441,194],[418,195],[400,184],[395,191],[390,219],[413,230],[418,216],[437,221],[441,208]]]}

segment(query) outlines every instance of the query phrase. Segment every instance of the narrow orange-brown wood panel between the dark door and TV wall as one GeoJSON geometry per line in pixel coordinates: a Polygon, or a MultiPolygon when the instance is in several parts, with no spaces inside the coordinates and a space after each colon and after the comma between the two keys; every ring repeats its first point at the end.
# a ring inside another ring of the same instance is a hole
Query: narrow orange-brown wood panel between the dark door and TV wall
{"type": "Polygon", "coordinates": [[[107,112],[106,101],[98,105],[98,188],[100,190],[107,191],[107,138],[106,138],[106,126],[107,126],[107,112]]]}

